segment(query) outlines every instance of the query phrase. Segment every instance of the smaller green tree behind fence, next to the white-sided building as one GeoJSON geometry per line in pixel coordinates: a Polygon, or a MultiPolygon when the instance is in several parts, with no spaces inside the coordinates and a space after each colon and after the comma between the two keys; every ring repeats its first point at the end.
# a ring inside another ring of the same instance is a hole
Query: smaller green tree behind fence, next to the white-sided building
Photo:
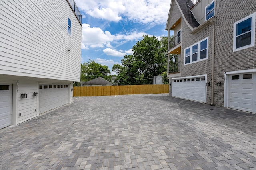
{"type": "Polygon", "coordinates": [[[111,75],[108,66],[89,60],[87,63],[81,64],[81,81],[89,81],[94,78],[102,77],[111,82],[111,75]]]}

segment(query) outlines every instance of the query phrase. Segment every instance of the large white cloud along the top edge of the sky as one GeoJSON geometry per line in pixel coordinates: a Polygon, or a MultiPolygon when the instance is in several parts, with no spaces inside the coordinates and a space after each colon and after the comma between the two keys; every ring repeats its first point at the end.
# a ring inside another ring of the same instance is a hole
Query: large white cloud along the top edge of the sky
{"type": "Polygon", "coordinates": [[[168,0],[76,0],[77,6],[95,18],[120,21],[122,18],[140,23],[166,23],[168,0]]]}

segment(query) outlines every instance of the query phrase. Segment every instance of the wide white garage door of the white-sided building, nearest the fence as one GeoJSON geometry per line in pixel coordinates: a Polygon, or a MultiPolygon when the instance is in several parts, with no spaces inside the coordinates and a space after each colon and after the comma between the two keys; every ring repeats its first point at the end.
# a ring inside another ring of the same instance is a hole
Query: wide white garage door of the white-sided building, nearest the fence
{"type": "Polygon", "coordinates": [[[69,90],[66,84],[39,86],[39,114],[69,103],[69,90]]]}

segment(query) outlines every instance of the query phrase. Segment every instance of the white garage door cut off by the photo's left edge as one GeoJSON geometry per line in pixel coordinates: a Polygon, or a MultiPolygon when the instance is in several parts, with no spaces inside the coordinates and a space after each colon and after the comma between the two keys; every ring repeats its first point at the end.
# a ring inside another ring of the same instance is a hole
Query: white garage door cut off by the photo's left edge
{"type": "Polygon", "coordinates": [[[12,125],[12,84],[0,85],[0,129],[12,125]]]}

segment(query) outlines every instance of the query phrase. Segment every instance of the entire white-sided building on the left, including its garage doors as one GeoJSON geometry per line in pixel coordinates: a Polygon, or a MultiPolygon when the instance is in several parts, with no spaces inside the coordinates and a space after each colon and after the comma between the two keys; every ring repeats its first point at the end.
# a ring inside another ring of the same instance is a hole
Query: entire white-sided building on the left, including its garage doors
{"type": "Polygon", "coordinates": [[[0,1],[0,23],[0,129],[72,102],[82,32],[74,1],[0,1]]]}

